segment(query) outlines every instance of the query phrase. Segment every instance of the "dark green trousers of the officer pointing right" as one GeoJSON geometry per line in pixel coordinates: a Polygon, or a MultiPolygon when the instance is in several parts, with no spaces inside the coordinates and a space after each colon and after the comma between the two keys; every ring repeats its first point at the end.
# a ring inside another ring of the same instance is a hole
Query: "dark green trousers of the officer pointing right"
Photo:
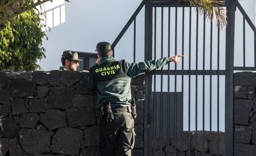
{"type": "Polygon", "coordinates": [[[134,118],[129,112],[113,112],[110,123],[101,118],[100,152],[101,156],[114,156],[116,147],[120,156],[132,155],[134,148],[134,118]]]}

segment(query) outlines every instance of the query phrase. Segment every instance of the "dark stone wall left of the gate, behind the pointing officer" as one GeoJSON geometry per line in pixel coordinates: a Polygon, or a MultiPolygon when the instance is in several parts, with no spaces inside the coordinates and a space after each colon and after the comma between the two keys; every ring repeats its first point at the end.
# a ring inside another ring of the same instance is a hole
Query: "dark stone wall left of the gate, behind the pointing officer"
{"type": "MultiPolygon", "coordinates": [[[[0,72],[2,155],[99,155],[99,117],[87,73],[0,72]]],[[[132,80],[139,117],[134,155],[143,155],[144,77],[132,80]]]]}

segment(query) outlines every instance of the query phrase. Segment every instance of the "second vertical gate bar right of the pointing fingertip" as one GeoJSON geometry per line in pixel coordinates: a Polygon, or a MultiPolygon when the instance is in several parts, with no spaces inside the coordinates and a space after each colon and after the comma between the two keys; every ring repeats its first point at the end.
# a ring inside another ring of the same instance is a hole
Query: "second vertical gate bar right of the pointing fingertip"
{"type": "Polygon", "coordinates": [[[196,150],[195,150],[195,155],[197,156],[198,155],[198,134],[197,134],[197,102],[198,102],[198,99],[197,99],[197,94],[198,94],[198,83],[197,83],[197,79],[198,79],[198,75],[197,75],[197,70],[198,70],[198,8],[197,8],[197,25],[196,25],[196,38],[195,38],[195,147],[196,147],[196,150]]]}

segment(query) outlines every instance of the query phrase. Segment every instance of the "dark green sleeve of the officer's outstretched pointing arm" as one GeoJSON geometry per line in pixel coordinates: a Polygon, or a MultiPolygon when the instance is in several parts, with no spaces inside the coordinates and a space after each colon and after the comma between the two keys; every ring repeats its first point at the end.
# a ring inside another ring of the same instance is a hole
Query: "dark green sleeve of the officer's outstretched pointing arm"
{"type": "Polygon", "coordinates": [[[125,62],[126,73],[132,78],[145,72],[150,72],[151,70],[161,68],[163,65],[166,65],[169,62],[169,57],[164,57],[163,59],[148,60],[146,62],[139,63],[125,62]]]}

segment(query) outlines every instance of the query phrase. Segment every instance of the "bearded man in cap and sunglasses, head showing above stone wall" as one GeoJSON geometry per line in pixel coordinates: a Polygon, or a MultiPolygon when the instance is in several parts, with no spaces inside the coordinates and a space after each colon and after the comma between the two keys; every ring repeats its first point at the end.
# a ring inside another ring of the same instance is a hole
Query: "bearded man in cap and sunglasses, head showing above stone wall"
{"type": "Polygon", "coordinates": [[[83,60],[79,59],[77,52],[64,51],[61,56],[62,67],[59,67],[59,70],[77,71],[77,68],[79,67],[79,61],[83,60]]]}

